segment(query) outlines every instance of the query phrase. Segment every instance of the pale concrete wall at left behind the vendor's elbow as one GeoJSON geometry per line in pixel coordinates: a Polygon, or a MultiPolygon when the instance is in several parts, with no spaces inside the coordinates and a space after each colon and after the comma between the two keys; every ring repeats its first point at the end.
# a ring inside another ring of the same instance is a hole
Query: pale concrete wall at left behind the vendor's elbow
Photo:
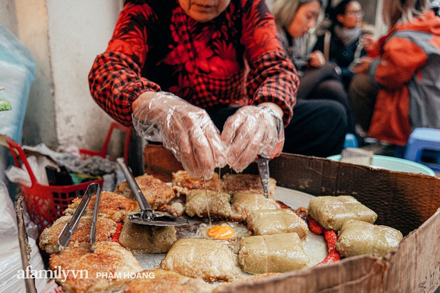
{"type": "Polygon", "coordinates": [[[121,9],[122,0],[0,0],[0,22],[36,62],[23,144],[101,148],[113,120],[91,99],[87,75],[121,9]]]}

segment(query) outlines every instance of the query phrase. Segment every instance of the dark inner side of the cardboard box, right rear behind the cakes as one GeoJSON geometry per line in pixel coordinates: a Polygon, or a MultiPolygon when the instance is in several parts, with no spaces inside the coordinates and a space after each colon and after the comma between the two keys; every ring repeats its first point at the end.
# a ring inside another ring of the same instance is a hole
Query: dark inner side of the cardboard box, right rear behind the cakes
{"type": "Polygon", "coordinates": [[[314,196],[353,196],[377,213],[376,224],[393,226],[404,235],[440,208],[440,178],[434,176],[293,154],[272,160],[270,176],[279,186],[314,196]]]}

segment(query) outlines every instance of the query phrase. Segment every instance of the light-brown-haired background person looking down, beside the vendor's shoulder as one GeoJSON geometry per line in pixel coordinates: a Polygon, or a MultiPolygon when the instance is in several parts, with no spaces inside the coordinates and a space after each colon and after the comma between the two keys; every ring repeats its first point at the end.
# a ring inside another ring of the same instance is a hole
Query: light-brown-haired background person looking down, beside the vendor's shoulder
{"type": "MultiPolygon", "coordinates": [[[[347,92],[340,81],[340,69],[333,62],[325,62],[321,51],[313,51],[307,58],[306,34],[315,26],[322,4],[318,0],[275,0],[272,8],[284,51],[300,72],[298,100],[309,99],[328,104],[333,100],[344,106],[347,113],[347,132],[355,133],[355,122],[347,92]],[[303,64],[300,64],[303,62],[303,64]]],[[[358,141],[362,138],[358,136],[358,141]]],[[[362,143],[360,143],[362,144],[362,143]]]]}

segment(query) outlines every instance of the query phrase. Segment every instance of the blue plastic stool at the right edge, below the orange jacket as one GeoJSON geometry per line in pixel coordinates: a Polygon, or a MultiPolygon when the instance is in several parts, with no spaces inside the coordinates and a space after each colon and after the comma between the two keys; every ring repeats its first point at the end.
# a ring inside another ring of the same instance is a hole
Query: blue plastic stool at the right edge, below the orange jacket
{"type": "Polygon", "coordinates": [[[415,128],[408,139],[404,159],[421,163],[440,172],[440,129],[415,128]],[[421,162],[423,150],[437,159],[437,164],[421,162]]]}

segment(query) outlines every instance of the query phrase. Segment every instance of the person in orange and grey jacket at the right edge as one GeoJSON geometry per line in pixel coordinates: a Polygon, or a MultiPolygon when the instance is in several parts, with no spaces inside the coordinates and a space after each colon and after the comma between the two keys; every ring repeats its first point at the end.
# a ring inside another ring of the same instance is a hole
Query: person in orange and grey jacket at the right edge
{"type": "Polygon", "coordinates": [[[440,128],[440,18],[429,0],[384,0],[380,56],[362,57],[349,97],[371,137],[406,145],[417,127],[440,128]]]}

